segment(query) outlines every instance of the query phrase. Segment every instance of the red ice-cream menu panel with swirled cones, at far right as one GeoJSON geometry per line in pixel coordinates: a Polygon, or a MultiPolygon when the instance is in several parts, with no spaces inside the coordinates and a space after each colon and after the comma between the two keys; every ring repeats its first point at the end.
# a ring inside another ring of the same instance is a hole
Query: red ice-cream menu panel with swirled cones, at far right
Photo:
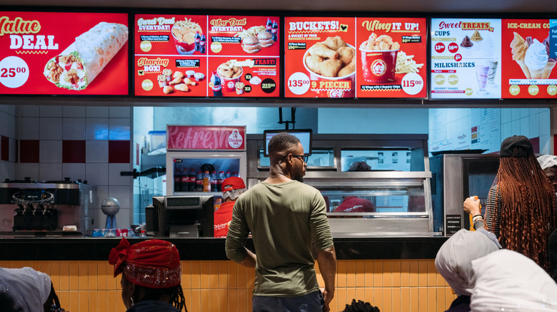
{"type": "Polygon", "coordinates": [[[501,97],[555,97],[556,58],[549,57],[549,20],[503,19],[501,26],[501,97]]]}

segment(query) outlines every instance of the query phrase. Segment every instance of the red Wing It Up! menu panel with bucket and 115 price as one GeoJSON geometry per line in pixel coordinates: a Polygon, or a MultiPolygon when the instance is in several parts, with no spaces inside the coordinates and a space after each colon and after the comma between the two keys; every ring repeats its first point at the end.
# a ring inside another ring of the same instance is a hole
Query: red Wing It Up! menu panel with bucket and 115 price
{"type": "Polygon", "coordinates": [[[426,19],[356,19],[357,98],[426,98],[426,19]]]}

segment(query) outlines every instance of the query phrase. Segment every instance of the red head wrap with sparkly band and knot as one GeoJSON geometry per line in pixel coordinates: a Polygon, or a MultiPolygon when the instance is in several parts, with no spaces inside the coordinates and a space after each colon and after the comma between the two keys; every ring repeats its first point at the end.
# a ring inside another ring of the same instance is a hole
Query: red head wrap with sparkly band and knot
{"type": "Polygon", "coordinates": [[[130,245],[122,239],[110,251],[109,264],[114,264],[114,277],[124,271],[126,279],[139,286],[168,288],[180,284],[180,255],[169,241],[149,239],[130,245]]]}

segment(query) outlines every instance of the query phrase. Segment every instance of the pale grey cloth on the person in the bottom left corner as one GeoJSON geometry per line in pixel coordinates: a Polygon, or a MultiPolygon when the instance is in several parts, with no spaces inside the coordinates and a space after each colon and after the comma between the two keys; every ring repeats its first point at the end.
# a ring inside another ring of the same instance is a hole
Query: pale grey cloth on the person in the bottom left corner
{"type": "Polygon", "coordinates": [[[50,290],[48,274],[29,267],[0,268],[0,292],[7,293],[14,300],[16,308],[22,308],[24,312],[43,312],[50,290]]]}

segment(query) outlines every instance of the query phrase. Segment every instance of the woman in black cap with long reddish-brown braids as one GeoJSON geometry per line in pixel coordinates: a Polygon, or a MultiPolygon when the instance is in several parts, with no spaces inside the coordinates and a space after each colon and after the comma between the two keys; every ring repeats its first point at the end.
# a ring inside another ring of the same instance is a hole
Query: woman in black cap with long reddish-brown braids
{"type": "Polygon", "coordinates": [[[527,137],[507,137],[499,157],[485,222],[479,200],[466,199],[464,211],[472,215],[474,229],[485,227],[504,248],[527,256],[549,272],[548,239],[556,229],[557,215],[553,185],[541,170],[527,137]]]}

